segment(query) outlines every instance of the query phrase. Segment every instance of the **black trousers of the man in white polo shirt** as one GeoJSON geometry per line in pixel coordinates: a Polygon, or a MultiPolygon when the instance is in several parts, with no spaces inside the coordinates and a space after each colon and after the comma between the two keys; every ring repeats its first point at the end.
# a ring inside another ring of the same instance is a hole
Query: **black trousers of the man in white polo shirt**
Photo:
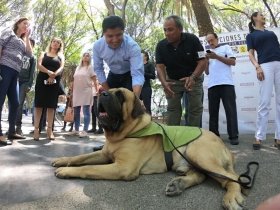
{"type": "Polygon", "coordinates": [[[217,85],[208,89],[209,100],[209,130],[219,134],[219,109],[222,99],[226,118],[229,139],[238,138],[238,121],[236,111],[236,94],[233,85],[217,85]]]}

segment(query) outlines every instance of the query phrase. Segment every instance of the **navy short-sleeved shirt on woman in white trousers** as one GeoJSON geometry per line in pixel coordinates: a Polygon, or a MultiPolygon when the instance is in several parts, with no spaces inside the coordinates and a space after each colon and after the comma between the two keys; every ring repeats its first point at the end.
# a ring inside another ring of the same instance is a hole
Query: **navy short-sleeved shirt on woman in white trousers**
{"type": "Polygon", "coordinates": [[[246,37],[248,51],[254,49],[258,53],[258,63],[280,61],[280,48],[274,32],[254,30],[246,37]]]}

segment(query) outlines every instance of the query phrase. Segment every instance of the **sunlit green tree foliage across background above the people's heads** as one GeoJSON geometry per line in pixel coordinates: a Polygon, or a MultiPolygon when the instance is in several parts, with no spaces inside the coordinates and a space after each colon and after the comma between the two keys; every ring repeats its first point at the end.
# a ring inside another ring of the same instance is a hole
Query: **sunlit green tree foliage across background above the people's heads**
{"type": "MultiPolygon", "coordinates": [[[[116,14],[125,20],[125,33],[150,54],[152,63],[156,44],[164,38],[164,18],[171,14],[182,17],[185,31],[199,36],[210,31],[247,30],[249,18],[255,11],[264,14],[267,27],[277,27],[280,22],[278,0],[103,1],[104,8],[96,7],[92,0],[37,0],[32,1],[32,5],[30,0],[1,0],[0,27],[22,16],[34,17],[32,37],[36,40],[34,51],[37,56],[53,37],[60,37],[66,58],[63,79],[68,86],[81,52],[91,52],[93,42],[102,37],[101,23],[108,15],[116,14]]],[[[153,81],[152,86],[154,94],[163,99],[159,82],[153,81]]],[[[161,106],[162,101],[155,101],[156,106],[161,106]]]]}

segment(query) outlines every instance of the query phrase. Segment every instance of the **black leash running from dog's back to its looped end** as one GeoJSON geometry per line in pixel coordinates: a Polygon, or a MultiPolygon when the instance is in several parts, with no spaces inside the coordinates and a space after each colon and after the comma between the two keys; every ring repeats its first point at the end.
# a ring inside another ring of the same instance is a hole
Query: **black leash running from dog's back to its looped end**
{"type": "MultiPolygon", "coordinates": [[[[156,122],[157,123],[157,122],[156,122]]],[[[172,146],[174,147],[174,149],[182,156],[182,158],[184,158],[192,167],[194,167],[195,169],[197,169],[198,171],[200,171],[201,173],[204,173],[204,174],[207,174],[209,176],[214,176],[214,177],[217,177],[217,178],[221,178],[221,179],[226,179],[226,180],[230,180],[232,182],[236,182],[238,184],[240,184],[242,187],[244,187],[245,189],[251,189],[253,186],[254,186],[254,183],[255,183],[255,178],[256,178],[256,174],[257,174],[257,171],[259,169],[259,163],[258,162],[255,162],[255,161],[251,161],[247,164],[247,171],[243,174],[241,174],[239,177],[238,177],[238,180],[234,180],[232,178],[229,178],[227,176],[224,176],[222,174],[218,174],[218,173],[215,173],[215,172],[212,172],[212,171],[208,171],[208,170],[205,170],[197,165],[195,165],[194,163],[192,163],[186,156],[184,156],[176,147],[175,145],[173,144],[173,142],[171,141],[171,139],[169,138],[169,136],[167,135],[166,131],[164,130],[164,128],[159,124],[157,123],[161,129],[163,130],[163,133],[165,134],[165,136],[168,138],[168,140],[170,141],[170,143],[172,144],[172,146]],[[256,165],[256,170],[255,170],[255,173],[253,173],[253,176],[251,177],[249,174],[250,174],[250,166],[251,165],[256,165]],[[244,182],[242,181],[241,179],[242,178],[245,178],[247,179],[248,181],[247,182],[244,182]]]]}

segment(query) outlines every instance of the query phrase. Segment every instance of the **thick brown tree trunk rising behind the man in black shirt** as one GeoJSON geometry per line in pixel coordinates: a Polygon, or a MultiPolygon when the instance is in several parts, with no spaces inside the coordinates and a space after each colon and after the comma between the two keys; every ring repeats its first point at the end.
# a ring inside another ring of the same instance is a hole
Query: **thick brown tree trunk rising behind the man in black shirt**
{"type": "Polygon", "coordinates": [[[199,36],[205,36],[208,32],[214,32],[213,25],[207,11],[204,0],[190,0],[196,17],[199,36]]]}

